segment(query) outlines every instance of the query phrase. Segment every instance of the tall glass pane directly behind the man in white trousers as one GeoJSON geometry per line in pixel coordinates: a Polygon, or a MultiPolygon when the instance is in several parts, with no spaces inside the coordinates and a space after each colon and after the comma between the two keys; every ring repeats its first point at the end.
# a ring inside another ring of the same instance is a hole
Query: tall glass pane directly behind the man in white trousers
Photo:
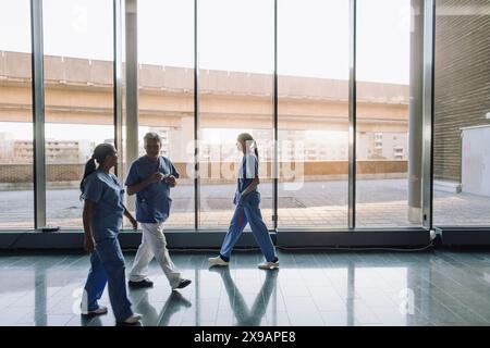
{"type": "Polygon", "coordinates": [[[157,132],[181,175],[166,224],[194,228],[194,1],[138,0],[137,22],[139,154],[157,132]]]}

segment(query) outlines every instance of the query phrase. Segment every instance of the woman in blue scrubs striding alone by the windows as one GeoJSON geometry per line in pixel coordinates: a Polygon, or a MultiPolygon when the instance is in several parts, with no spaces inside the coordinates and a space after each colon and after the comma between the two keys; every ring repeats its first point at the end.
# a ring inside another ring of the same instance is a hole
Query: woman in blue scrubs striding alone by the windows
{"type": "Polygon", "coordinates": [[[233,199],[233,203],[236,204],[235,212],[224,236],[220,254],[216,258],[209,258],[209,263],[211,265],[229,264],[233,246],[248,223],[255,240],[266,257],[266,261],[260,263],[258,268],[261,270],[279,269],[274,246],[259,208],[260,192],[257,190],[257,186],[260,184],[260,181],[258,176],[257,142],[248,133],[242,133],[238,135],[236,148],[243,152],[243,160],[238,170],[238,182],[233,199]]]}

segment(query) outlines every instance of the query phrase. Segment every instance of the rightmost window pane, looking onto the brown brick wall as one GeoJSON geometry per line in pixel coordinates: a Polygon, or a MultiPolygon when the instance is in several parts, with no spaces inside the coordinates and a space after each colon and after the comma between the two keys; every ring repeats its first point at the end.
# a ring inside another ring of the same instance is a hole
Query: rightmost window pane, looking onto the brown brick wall
{"type": "Polygon", "coordinates": [[[433,221],[489,226],[489,2],[436,5],[433,221]]]}

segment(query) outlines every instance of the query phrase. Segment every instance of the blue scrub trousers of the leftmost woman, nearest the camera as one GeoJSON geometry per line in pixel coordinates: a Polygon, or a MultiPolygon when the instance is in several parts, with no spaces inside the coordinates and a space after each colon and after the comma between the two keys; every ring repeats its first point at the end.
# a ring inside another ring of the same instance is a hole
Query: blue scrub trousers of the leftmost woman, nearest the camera
{"type": "Polygon", "coordinates": [[[109,285],[109,299],[115,320],[122,322],[133,314],[131,302],[127,299],[125,282],[125,264],[121,246],[117,235],[96,241],[96,247],[90,256],[90,272],[88,273],[85,291],[87,296],[87,309],[98,308],[106,287],[109,285]]]}

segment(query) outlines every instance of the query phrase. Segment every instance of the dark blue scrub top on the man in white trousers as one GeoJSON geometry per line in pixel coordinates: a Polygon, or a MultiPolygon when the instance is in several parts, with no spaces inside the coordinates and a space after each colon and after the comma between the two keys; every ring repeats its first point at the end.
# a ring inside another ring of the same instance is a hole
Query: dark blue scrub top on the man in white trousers
{"type": "MultiPolygon", "coordinates": [[[[168,158],[160,156],[157,163],[143,156],[131,164],[125,185],[139,184],[156,172],[179,177],[179,172],[168,158]]],[[[170,215],[171,203],[169,184],[163,182],[150,184],[136,194],[136,220],[140,223],[163,222],[170,215]]]]}

